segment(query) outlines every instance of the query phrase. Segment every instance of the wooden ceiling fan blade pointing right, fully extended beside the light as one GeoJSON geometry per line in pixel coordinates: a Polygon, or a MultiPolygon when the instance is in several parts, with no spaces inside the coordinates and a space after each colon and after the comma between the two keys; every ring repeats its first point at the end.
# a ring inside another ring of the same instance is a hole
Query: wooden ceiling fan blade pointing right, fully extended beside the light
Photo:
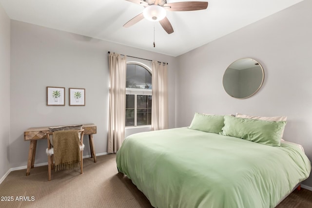
{"type": "Polygon", "coordinates": [[[195,11],[207,9],[208,2],[206,1],[181,1],[174,3],[165,3],[165,9],[168,11],[195,11]]]}

